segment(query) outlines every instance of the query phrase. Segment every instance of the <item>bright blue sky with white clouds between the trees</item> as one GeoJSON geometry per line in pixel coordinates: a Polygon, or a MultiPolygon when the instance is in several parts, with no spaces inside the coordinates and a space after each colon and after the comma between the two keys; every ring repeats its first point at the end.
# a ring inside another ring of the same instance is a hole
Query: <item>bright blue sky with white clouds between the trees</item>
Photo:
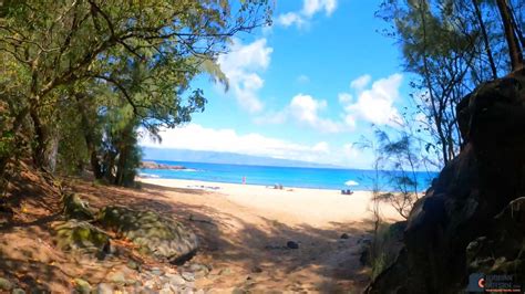
{"type": "Polygon", "coordinates": [[[410,94],[399,46],[378,32],[388,27],[379,4],[277,1],[271,27],[236,35],[219,56],[229,90],[197,78],[205,112],[162,132],[162,144],[140,144],[371,168],[357,143],[373,137],[372,124],[394,126],[410,94]]]}

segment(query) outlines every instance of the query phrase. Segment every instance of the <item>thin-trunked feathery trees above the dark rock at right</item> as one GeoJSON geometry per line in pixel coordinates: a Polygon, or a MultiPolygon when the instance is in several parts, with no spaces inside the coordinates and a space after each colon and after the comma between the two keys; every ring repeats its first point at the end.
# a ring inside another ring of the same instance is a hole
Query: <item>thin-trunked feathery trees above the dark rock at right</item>
{"type": "Polygon", "coordinates": [[[393,24],[387,34],[400,44],[405,71],[416,74],[411,82],[414,109],[426,119],[421,130],[434,139],[429,147],[436,150],[440,166],[455,158],[462,146],[457,103],[480,83],[508,72],[507,52],[518,60],[519,48],[504,46],[503,36],[513,32],[517,44],[521,30],[512,8],[521,4],[503,0],[498,7],[503,10],[485,0],[388,0],[378,11],[393,24]],[[498,11],[507,21],[500,20],[498,11]]]}

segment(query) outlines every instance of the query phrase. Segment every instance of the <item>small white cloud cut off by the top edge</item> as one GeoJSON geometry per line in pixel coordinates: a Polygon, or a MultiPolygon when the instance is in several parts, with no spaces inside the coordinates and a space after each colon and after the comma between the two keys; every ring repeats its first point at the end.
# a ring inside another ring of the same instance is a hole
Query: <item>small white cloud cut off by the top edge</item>
{"type": "Polygon", "coordinates": [[[302,9],[297,12],[287,12],[277,17],[277,23],[284,27],[296,25],[303,28],[319,12],[330,17],[337,8],[337,0],[303,0],[302,9]]]}

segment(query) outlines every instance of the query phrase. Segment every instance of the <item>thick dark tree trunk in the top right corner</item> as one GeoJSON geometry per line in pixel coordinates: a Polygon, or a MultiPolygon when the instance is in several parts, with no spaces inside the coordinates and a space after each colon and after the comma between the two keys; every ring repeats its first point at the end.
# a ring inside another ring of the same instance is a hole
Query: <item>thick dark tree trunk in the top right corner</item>
{"type": "Polygon", "coordinates": [[[508,45],[508,54],[511,56],[512,71],[517,71],[523,67],[523,54],[517,36],[515,34],[514,24],[512,21],[511,9],[508,8],[506,0],[496,0],[497,9],[503,21],[503,28],[505,30],[505,39],[508,45]]]}

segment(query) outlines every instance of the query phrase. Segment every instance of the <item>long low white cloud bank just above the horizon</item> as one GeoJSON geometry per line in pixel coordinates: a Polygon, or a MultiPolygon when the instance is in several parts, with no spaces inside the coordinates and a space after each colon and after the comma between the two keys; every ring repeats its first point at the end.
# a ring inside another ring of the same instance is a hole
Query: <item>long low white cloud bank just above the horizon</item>
{"type": "Polygon", "coordinates": [[[238,134],[231,128],[215,129],[203,127],[198,124],[164,129],[161,132],[161,137],[162,143],[158,144],[144,136],[140,145],[156,148],[236,153],[308,161],[320,160],[325,162],[330,150],[326,141],[319,141],[311,146],[300,145],[266,137],[257,133],[238,134]]]}

